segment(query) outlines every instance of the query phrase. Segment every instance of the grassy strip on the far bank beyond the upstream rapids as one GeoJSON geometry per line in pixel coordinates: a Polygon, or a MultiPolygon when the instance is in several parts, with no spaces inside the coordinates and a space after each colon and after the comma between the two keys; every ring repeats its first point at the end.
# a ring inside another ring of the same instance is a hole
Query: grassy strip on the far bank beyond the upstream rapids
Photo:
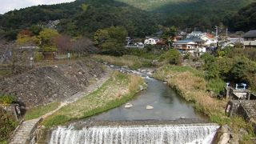
{"type": "Polygon", "coordinates": [[[138,69],[140,67],[152,66],[151,60],[141,58],[134,55],[123,55],[122,57],[114,57],[109,55],[91,55],[98,62],[108,62],[115,66],[128,66],[131,69],[138,69]]]}

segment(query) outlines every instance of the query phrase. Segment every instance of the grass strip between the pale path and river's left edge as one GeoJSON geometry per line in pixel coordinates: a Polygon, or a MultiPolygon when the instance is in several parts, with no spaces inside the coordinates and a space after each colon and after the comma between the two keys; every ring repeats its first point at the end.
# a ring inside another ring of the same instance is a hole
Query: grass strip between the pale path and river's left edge
{"type": "Polygon", "coordinates": [[[141,77],[114,72],[98,90],[62,107],[44,119],[42,125],[57,126],[74,119],[90,117],[129,101],[138,93],[144,81],[141,77]]]}

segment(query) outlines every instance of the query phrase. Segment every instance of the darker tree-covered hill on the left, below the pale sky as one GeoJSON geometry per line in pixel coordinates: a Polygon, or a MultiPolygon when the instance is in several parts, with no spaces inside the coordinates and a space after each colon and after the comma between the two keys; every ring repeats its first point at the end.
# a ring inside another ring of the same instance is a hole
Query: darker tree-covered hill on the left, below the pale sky
{"type": "Polygon", "coordinates": [[[123,26],[131,36],[145,36],[157,30],[151,15],[114,0],[77,0],[10,11],[0,16],[0,33],[14,40],[19,30],[47,27],[50,21],[59,20],[57,30],[70,36],[90,35],[110,26],[123,26]]]}

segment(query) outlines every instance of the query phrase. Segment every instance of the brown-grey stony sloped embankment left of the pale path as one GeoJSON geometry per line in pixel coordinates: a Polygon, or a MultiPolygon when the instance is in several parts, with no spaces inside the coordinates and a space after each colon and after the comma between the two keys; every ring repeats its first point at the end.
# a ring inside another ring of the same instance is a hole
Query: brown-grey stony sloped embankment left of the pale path
{"type": "Polygon", "coordinates": [[[68,99],[104,74],[103,66],[90,60],[39,67],[0,82],[0,93],[15,95],[29,109],[68,99]]]}

